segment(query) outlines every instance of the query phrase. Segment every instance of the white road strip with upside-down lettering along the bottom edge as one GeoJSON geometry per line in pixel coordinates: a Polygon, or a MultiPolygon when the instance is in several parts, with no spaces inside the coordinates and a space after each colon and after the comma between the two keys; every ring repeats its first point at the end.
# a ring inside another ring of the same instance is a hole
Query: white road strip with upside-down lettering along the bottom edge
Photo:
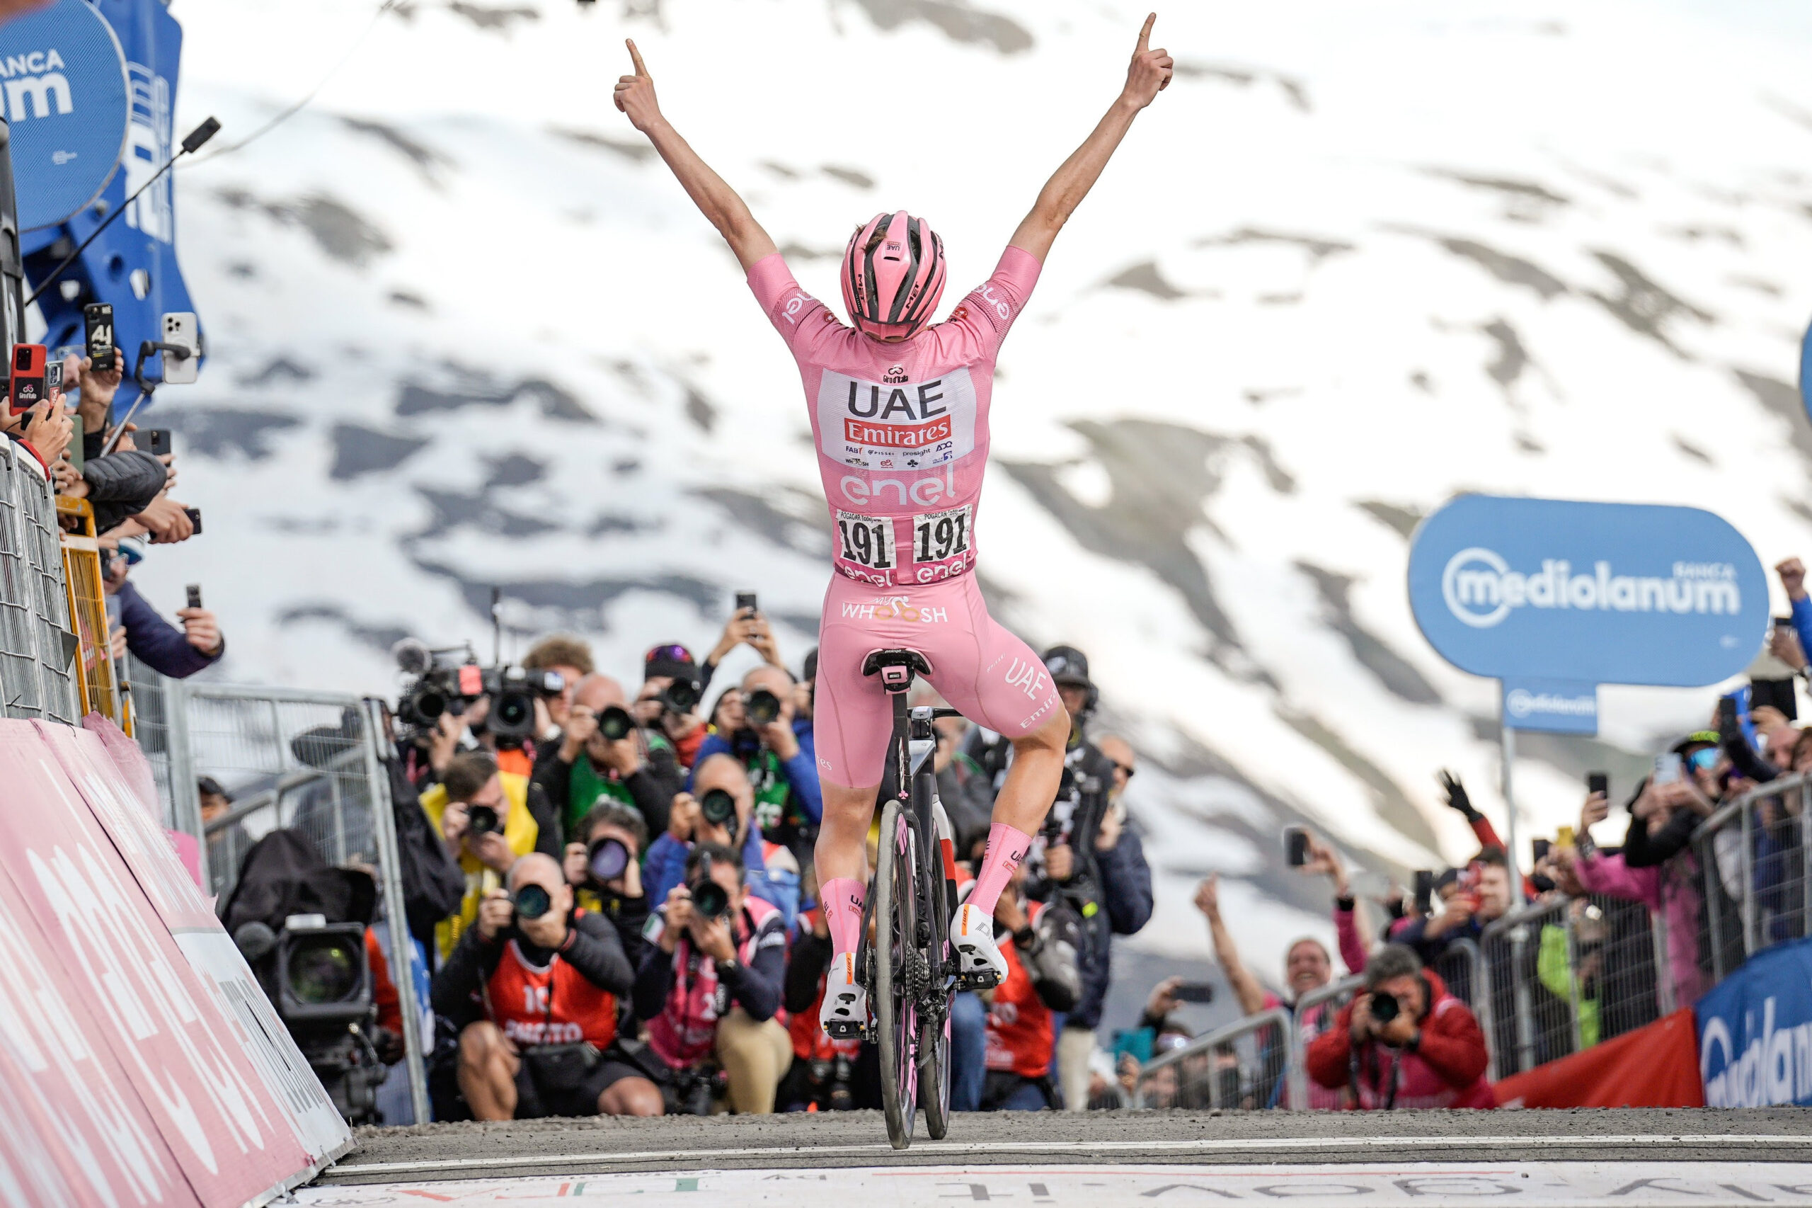
{"type": "Polygon", "coordinates": [[[1562,1208],[1591,1204],[1812,1204],[1812,1163],[1364,1163],[1350,1166],[899,1166],[850,1170],[692,1170],[685,1174],[529,1175],[448,1183],[313,1186],[303,1208],[480,1204],[564,1208],[638,1197],[636,1208],[716,1204],[1004,1203],[1006,1208],[1131,1204],[1265,1204],[1288,1201],[1404,1208],[1489,1199],[1562,1208]],[[701,1199],[701,1195],[708,1197],[701,1199]]]}

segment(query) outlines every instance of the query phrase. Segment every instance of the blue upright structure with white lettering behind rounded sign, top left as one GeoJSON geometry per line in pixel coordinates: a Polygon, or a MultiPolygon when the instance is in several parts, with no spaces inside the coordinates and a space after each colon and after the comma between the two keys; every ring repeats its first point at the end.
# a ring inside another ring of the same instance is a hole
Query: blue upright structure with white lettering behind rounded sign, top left
{"type": "MultiPolygon", "coordinates": [[[[20,239],[25,278],[42,281],[69,250],[85,239],[176,152],[176,74],[183,54],[183,27],[161,0],[60,0],[98,11],[112,27],[125,53],[127,132],[120,170],[101,190],[100,201],[67,221],[20,239]],[[67,239],[67,241],[65,241],[67,239]]],[[[11,25],[5,27],[11,31],[11,25]]],[[[0,85],[4,87],[4,85],[0,85]]],[[[176,181],[165,174],[134,201],[94,243],[82,252],[56,287],[38,299],[47,325],[45,343],[74,348],[83,343],[82,307],[112,303],[114,343],[127,372],[145,339],[159,337],[167,312],[194,310],[183,272],[176,263],[176,181]],[[65,285],[72,283],[72,285],[65,285]],[[67,290],[67,292],[65,292],[67,290]],[[72,294],[72,296],[71,296],[72,294]]],[[[20,207],[25,187],[20,185],[20,207]]],[[[205,325],[203,325],[205,326],[205,325]]],[[[203,365],[207,361],[203,359],[203,365]]],[[[145,375],[163,374],[161,357],[145,363],[145,375]]],[[[129,395],[127,395],[129,397],[129,395]]]]}

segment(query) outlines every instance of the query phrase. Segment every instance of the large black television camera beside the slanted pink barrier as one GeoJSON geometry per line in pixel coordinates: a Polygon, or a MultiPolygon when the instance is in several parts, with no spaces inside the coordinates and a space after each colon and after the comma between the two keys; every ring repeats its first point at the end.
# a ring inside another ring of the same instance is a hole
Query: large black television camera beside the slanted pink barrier
{"type": "Polygon", "coordinates": [[[234,943],[248,963],[275,954],[275,1008],[333,1106],[350,1125],[379,1123],[377,1088],[390,1068],[368,1030],[375,1025],[364,923],[290,914],[283,932],[243,923],[234,943]]]}

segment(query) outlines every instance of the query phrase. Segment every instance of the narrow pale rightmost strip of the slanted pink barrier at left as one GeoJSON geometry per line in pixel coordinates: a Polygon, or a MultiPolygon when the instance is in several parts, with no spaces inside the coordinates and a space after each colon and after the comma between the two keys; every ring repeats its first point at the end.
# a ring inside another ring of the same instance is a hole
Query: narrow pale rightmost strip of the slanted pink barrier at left
{"type": "Polygon", "coordinates": [[[91,716],[87,724],[91,729],[47,722],[33,726],[125,858],[194,974],[232,1019],[239,1050],[257,1065],[295,1141],[310,1161],[337,1157],[352,1132],[290,1039],[290,1030],[265,998],[232,936],[221,929],[194,878],[170,852],[170,842],[159,825],[156,791],[150,787],[150,767],[143,767],[143,776],[130,769],[134,756],[138,764],[145,764],[143,753],[107,718],[91,716]],[[140,798],[145,789],[152,791],[150,800],[140,798]]]}

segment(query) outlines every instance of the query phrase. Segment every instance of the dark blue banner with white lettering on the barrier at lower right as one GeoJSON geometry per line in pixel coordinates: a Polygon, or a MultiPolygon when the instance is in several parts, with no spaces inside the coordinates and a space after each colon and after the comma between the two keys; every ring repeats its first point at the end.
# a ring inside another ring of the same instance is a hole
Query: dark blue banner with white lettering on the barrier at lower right
{"type": "Polygon", "coordinates": [[[1758,952],[1694,1014],[1705,1106],[1812,1105],[1812,940],[1758,952]]]}

